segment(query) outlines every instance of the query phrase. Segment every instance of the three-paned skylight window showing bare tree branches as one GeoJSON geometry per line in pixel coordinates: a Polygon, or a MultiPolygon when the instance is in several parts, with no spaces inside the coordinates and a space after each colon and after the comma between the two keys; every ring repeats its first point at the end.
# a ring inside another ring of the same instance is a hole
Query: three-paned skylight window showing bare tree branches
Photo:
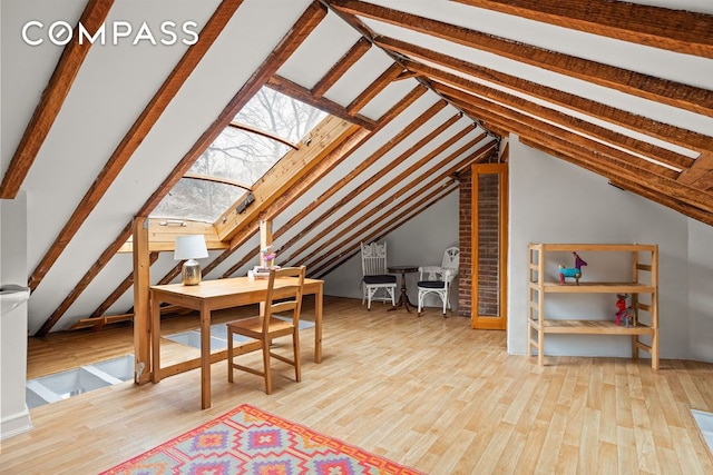
{"type": "Polygon", "coordinates": [[[325,116],[263,87],[150,216],[214,222],[325,116]]]}

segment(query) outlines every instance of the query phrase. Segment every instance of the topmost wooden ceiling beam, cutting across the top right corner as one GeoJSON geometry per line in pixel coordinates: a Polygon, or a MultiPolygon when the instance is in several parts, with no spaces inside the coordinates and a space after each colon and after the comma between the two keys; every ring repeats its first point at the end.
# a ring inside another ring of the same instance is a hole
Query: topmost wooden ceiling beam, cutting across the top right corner
{"type": "Polygon", "coordinates": [[[713,16],[624,1],[453,0],[563,28],[713,58],[713,16]]]}

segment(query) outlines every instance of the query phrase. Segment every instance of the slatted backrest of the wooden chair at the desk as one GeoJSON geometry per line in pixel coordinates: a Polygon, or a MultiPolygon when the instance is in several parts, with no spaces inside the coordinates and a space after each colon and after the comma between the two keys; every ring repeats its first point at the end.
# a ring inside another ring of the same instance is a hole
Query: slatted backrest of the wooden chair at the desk
{"type": "Polygon", "coordinates": [[[267,296],[264,304],[264,331],[267,331],[270,317],[275,314],[292,311],[292,321],[295,326],[299,325],[304,291],[304,266],[270,270],[267,296]]]}

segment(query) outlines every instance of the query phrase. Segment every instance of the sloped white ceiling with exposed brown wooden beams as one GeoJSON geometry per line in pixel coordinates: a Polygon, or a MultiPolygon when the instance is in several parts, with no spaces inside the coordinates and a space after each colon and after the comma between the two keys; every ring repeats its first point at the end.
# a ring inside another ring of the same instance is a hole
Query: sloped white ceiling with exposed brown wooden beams
{"type": "MultiPolygon", "coordinates": [[[[0,16],[0,197],[28,196],[30,334],[130,314],[133,219],[265,83],[334,118],[289,186],[266,177],[250,212],[195,225],[213,237],[207,278],[256,264],[260,219],[279,264],[323,276],[471,164],[506,160],[509,133],[713,225],[707,0],[3,0],[0,16]],[[195,22],[198,41],[114,44],[109,28],[57,46],[58,20],[195,22]]],[[[156,246],[152,281],[170,281],[156,246]]]]}

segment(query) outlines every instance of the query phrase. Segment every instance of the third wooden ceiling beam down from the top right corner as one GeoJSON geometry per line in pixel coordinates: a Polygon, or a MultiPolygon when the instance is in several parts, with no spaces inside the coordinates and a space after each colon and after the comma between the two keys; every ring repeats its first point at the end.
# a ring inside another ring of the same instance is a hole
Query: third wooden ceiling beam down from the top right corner
{"type": "MultiPolygon", "coordinates": [[[[677,145],[683,148],[699,151],[713,149],[713,137],[711,136],[705,136],[692,130],[682,129],[680,127],[660,122],[657,120],[653,120],[637,113],[628,112],[626,110],[617,109],[602,102],[585,99],[579,96],[560,91],[559,89],[541,86],[537,82],[506,75],[504,72],[499,72],[480,65],[473,65],[462,59],[436,52],[417,44],[408,43],[406,41],[387,37],[377,37],[374,39],[374,43],[394,53],[400,53],[402,56],[409,57],[410,59],[403,60],[403,65],[408,69],[413,69],[414,72],[421,73],[423,76],[429,76],[430,72],[430,77],[441,81],[447,81],[452,86],[457,86],[458,81],[453,80],[452,78],[459,78],[458,76],[450,75],[441,69],[432,67],[427,68],[426,65],[416,61],[414,58],[426,60],[429,63],[437,65],[439,67],[462,72],[463,75],[471,76],[479,80],[488,81],[490,83],[524,95],[528,95],[557,106],[566,107],[574,111],[595,117],[615,126],[624,127],[626,129],[656,138],[658,140],[663,140],[665,142],[677,145]]],[[[461,83],[460,86],[462,87],[465,85],[461,83]]]]}

